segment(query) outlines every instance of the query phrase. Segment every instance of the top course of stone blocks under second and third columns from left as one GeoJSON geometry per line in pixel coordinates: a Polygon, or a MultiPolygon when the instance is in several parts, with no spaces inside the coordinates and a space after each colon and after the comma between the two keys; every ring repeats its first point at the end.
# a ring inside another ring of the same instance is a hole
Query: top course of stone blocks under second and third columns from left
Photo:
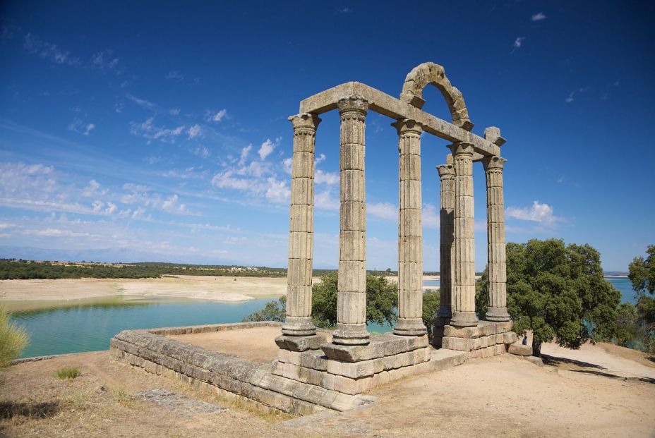
{"type": "Polygon", "coordinates": [[[428,346],[428,336],[397,336],[395,334],[381,334],[371,336],[368,345],[347,346],[335,343],[324,343],[320,346],[323,353],[330,359],[343,362],[359,362],[382,358],[384,356],[407,353],[417,348],[428,346]]]}

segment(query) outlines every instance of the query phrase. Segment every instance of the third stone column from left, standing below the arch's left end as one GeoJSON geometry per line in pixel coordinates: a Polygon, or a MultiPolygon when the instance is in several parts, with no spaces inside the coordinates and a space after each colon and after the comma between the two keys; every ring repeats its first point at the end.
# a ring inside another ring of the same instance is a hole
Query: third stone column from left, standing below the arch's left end
{"type": "Polygon", "coordinates": [[[398,131],[398,321],[394,334],[421,336],[423,325],[423,230],[421,224],[421,123],[404,118],[398,131]]]}

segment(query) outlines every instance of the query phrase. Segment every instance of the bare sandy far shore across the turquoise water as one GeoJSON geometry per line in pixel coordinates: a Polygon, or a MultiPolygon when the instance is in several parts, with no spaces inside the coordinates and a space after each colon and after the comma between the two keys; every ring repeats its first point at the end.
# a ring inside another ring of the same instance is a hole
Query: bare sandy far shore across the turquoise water
{"type": "MultiPolygon", "coordinates": [[[[398,281],[397,276],[387,278],[398,281]]],[[[438,279],[438,275],[423,276],[423,281],[438,279]]],[[[313,281],[320,281],[320,278],[313,281]]],[[[0,280],[0,301],[8,302],[62,302],[121,296],[234,302],[286,293],[286,277],[177,275],[157,279],[0,280]]]]}

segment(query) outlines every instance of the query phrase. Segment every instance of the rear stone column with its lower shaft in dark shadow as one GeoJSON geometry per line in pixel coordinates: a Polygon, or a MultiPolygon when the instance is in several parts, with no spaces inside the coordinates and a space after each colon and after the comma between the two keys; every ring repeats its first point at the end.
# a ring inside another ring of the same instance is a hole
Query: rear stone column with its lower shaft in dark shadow
{"type": "Polygon", "coordinates": [[[452,318],[452,243],[453,210],[455,209],[455,168],[452,155],[446,157],[446,164],[437,166],[440,182],[439,217],[439,317],[452,318]]]}

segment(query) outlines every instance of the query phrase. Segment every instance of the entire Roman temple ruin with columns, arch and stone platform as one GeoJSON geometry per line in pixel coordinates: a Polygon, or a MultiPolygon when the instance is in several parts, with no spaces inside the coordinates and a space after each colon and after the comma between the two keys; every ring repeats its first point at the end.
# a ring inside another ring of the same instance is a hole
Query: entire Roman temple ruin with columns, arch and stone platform
{"type": "Polygon", "coordinates": [[[112,339],[118,360],[198,387],[235,396],[272,410],[308,414],[347,410],[371,403],[366,391],[422,372],[443,370],[469,358],[505,352],[531,354],[511,331],[505,290],[503,164],[505,139],[495,127],[482,137],[471,132],[462,93],[444,68],[422,63],[404,80],[399,99],[362,83],[349,82],[304,99],[289,117],[294,132],[287,315],[275,339],[277,360],[251,363],[222,351],[170,339],[277,325],[275,322],[215,324],[121,331],[112,339]],[[423,89],[434,85],[450,109],[450,122],[421,109],[423,89]],[[339,281],[337,327],[314,327],[311,317],[314,154],[320,114],[340,116],[339,281]],[[366,116],[392,119],[399,150],[398,320],[392,333],[366,330],[366,116]],[[440,181],[440,308],[432,327],[422,320],[423,237],[421,223],[421,136],[450,142],[437,166],[440,181]],[[473,166],[486,174],[488,311],[475,311],[473,166]],[[428,342],[428,330],[431,331],[428,342]],[[328,339],[330,339],[328,341],[328,339]]]}

